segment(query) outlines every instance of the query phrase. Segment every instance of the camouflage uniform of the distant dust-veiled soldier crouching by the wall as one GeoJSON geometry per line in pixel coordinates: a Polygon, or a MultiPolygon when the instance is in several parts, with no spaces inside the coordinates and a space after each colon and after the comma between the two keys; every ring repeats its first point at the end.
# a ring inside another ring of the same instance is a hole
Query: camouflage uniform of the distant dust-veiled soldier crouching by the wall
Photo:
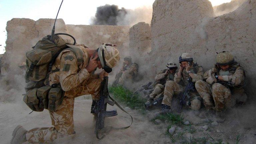
{"type": "Polygon", "coordinates": [[[115,81],[118,81],[118,84],[120,85],[123,85],[128,79],[132,80],[132,78],[137,74],[137,65],[135,63],[125,65],[123,71],[123,73],[119,72],[115,77],[115,81]]]}

